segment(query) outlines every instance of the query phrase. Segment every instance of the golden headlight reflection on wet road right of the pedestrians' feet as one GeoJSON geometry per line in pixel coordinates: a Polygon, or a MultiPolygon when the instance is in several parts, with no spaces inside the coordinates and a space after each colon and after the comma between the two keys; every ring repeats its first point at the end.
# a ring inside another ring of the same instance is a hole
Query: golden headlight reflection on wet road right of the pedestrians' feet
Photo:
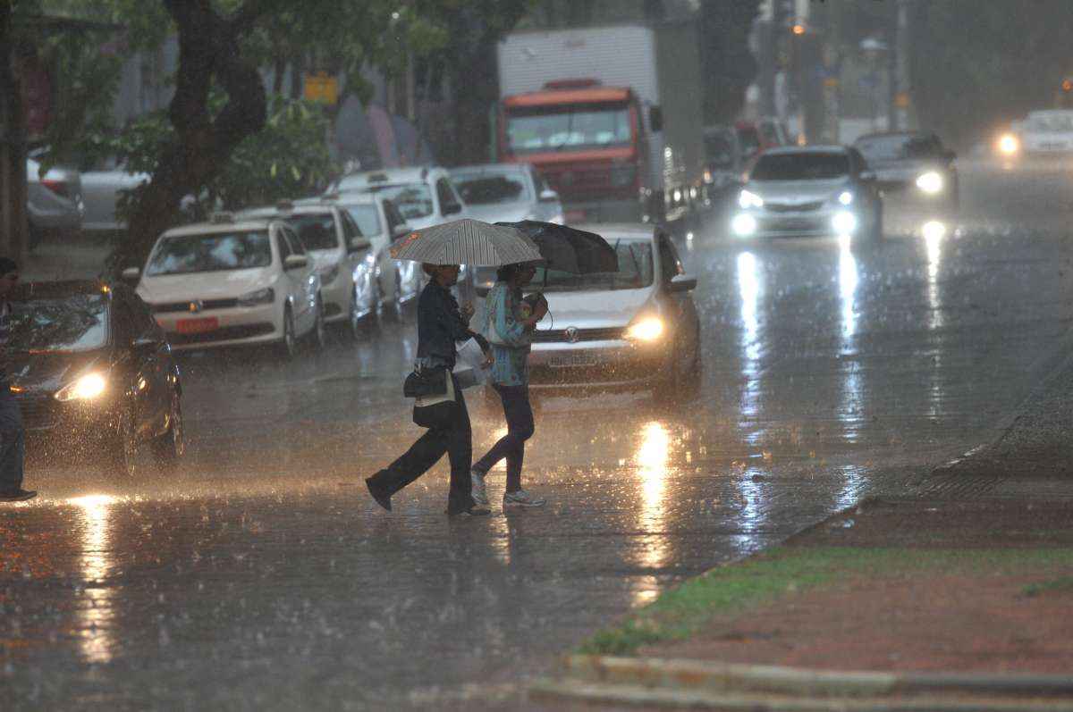
{"type": "MultiPolygon", "coordinates": [[[[641,429],[641,443],[633,456],[641,487],[642,537],[635,563],[642,568],[662,568],[668,563],[666,526],[666,477],[671,459],[671,433],[652,420],[641,429]]],[[[649,603],[658,595],[657,581],[647,576],[634,589],[634,604],[649,603]]]]}

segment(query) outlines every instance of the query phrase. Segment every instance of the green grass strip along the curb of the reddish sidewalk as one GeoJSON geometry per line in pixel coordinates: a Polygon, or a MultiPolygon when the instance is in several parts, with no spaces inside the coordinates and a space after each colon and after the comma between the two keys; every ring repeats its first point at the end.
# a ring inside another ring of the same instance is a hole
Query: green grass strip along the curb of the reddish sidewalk
{"type": "MultiPolygon", "coordinates": [[[[629,655],[642,646],[688,638],[716,615],[741,613],[859,576],[1001,573],[1034,566],[1073,566],[1073,550],[779,547],[685,581],[618,625],[598,632],[578,652],[629,655]]],[[[1034,585],[1073,591],[1073,577],[1034,585]]],[[[1037,594],[1026,589],[1026,595],[1037,594]]]]}

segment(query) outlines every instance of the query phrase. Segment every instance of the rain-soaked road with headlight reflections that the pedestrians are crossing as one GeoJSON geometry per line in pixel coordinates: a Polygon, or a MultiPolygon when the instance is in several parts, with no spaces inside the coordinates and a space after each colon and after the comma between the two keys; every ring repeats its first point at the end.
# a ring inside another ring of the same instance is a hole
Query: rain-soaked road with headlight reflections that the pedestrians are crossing
{"type": "MultiPolygon", "coordinates": [[[[368,498],[420,432],[412,314],[293,365],[183,356],[183,472],[33,458],[42,496],[0,515],[0,708],[487,704],[684,577],[905,492],[1001,432],[1073,317],[1069,172],[962,189],[959,216],[888,204],[879,249],[684,237],[700,399],[543,402],[544,510],[447,520],[445,462],[393,514],[368,498]]],[[[470,410],[480,454],[502,426],[470,410]]]]}

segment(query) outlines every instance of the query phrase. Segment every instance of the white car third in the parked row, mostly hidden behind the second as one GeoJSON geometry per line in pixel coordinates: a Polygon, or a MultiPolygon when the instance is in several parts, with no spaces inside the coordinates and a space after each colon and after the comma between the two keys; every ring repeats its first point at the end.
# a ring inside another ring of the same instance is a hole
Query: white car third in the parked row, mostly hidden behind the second
{"type": "Polygon", "coordinates": [[[413,288],[403,288],[401,266],[392,259],[388,251],[392,241],[411,232],[394,203],[377,193],[332,193],[297,202],[298,205],[318,203],[338,206],[371,242],[370,256],[367,257],[371,269],[363,276],[368,281],[370,310],[387,305],[399,308],[417,296],[413,288]]]}

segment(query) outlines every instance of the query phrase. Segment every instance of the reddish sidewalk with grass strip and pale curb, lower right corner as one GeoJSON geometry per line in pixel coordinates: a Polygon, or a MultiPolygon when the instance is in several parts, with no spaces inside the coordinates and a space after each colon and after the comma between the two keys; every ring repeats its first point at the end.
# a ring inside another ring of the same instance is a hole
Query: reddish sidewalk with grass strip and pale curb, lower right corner
{"type": "Polygon", "coordinates": [[[534,701],[1073,710],[1073,358],[1005,434],[661,596],[534,701]]]}

